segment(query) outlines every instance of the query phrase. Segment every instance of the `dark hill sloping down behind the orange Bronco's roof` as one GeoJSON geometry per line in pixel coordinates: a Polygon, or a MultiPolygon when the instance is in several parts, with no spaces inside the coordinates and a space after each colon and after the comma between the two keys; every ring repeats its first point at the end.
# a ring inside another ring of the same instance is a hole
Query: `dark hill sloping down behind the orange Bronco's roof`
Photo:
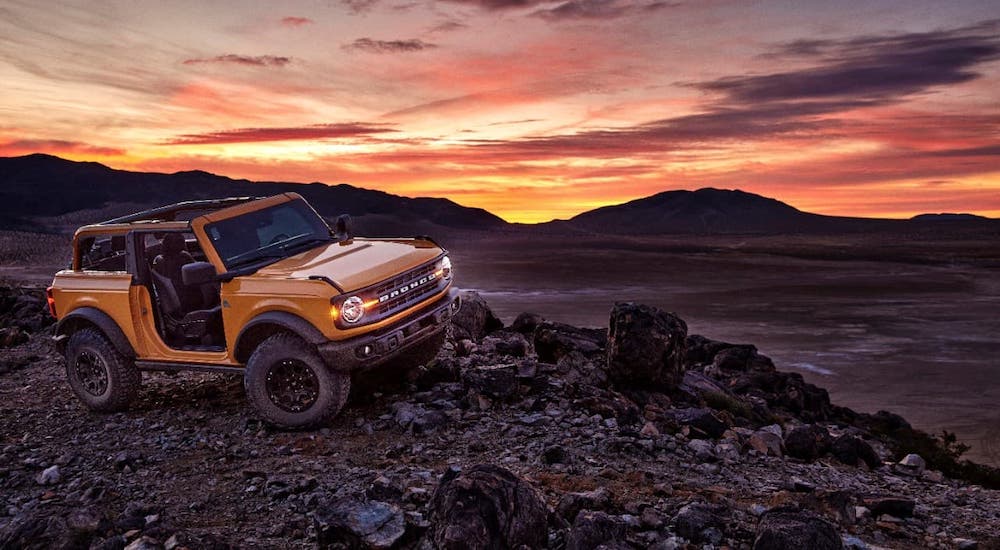
{"type": "Polygon", "coordinates": [[[198,170],[129,172],[34,154],[0,157],[0,228],[71,231],[81,223],[182,200],[287,191],[301,194],[324,216],[351,214],[359,233],[413,235],[507,226],[486,210],[448,199],[407,198],[346,184],[252,182],[198,170]]]}

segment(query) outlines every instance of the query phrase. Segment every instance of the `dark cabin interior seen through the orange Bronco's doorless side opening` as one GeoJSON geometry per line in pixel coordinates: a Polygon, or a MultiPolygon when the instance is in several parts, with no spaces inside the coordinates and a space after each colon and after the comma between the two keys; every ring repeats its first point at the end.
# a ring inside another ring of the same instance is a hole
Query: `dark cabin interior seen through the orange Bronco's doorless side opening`
{"type": "Polygon", "coordinates": [[[140,242],[156,300],[157,328],[175,349],[220,349],[225,346],[219,283],[185,282],[184,266],[205,262],[191,233],[146,233],[140,242]]]}

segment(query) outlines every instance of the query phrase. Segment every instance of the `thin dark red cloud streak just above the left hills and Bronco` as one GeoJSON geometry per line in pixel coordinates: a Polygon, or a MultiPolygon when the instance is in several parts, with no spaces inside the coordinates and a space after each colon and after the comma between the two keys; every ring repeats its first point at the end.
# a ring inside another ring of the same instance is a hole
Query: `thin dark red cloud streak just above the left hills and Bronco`
{"type": "Polygon", "coordinates": [[[245,143],[258,141],[299,141],[326,138],[366,138],[375,134],[394,132],[385,124],[346,122],[340,124],[314,124],[286,128],[238,128],[204,134],[184,134],[165,145],[201,145],[207,143],[245,143]]]}

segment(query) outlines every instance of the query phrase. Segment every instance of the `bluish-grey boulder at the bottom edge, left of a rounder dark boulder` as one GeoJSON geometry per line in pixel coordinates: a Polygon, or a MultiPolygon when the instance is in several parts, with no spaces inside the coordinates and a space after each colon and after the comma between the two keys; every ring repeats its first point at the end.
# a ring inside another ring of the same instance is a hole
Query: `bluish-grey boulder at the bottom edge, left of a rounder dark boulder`
{"type": "Polygon", "coordinates": [[[406,533],[403,512],[379,501],[340,499],[313,514],[320,547],[346,543],[349,548],[392,548],[406,533]]]}

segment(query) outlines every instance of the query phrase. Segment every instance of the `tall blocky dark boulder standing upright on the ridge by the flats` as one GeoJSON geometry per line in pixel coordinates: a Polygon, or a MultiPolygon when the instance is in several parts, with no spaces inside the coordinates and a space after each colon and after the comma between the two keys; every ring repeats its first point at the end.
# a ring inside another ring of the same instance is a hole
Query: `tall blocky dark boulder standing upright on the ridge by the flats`
{"type": "Polygon", "coordinates": [[[620,302],[608,325],[608,375],[622,386],[672,390],[684,376],[687,324],[655,307],[620,302]]]}

